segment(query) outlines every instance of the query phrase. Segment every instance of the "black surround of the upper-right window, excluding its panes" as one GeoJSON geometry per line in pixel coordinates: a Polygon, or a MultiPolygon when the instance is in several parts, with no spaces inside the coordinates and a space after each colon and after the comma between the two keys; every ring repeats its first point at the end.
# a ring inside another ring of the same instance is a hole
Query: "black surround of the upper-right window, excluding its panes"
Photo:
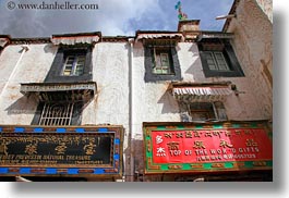
{"type": "Polygon", "coordinates": [[[242,67],[228,39],[218,39],[218,38],[217,39],[203,39],[202,41],[197,42],[197,47],[198,47],[198,52],[200,52],[201,62],[202,62],[203,72],[204,72],[205,77],[243,77],[244,76],[242,67]],[[221,48],[218,50],[206,50],[204,49],[203,45],[207,45],[207,44],[219,45],[221,46],[221,48]],[[207,64],[207,60],[206,60],[206,54],[205,54],[206,51],[222,52],[222,55],[230,71],[210,70],[207,64]]]}

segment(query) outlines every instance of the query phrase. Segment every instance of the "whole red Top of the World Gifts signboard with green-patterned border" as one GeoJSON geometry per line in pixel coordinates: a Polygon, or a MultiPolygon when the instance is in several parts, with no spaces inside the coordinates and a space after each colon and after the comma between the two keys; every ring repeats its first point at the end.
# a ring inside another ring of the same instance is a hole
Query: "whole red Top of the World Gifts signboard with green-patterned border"
{"type": "Polygon", "coordinates": [[[145,172],[272,170],[272,128],[266,122],[146,123],[145,172]]]}

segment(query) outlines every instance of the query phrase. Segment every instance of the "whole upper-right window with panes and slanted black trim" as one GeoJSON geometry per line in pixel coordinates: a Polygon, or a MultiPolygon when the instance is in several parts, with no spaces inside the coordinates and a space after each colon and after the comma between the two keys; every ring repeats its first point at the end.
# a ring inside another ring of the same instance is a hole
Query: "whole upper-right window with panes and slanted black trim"
{"type": "Polygon", "coordinates": [[[244,76],[234,51],[228,40],[204,40],[198,42],[198,50],[206,77],[244,76]]]}

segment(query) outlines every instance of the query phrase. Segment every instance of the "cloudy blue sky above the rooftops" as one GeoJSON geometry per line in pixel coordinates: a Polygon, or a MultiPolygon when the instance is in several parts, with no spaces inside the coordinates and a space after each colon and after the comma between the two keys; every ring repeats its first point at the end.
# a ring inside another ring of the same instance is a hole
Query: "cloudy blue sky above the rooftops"
{"type": "MultiPolygon", "coordinates": [[[[56,0],[0,0],[0,34],[49,37],[53,34],[101,32],[104,36],[134,36],[135,30],[177,30],[179,0],[58,0],[57,3],[97,4],[97,10],[20,10],[20,3],[56,0]],[[13,2],[13,9],[9,3],[13,2]]],[[[202,30],[221,30],[233,0],[180,0],[188,20],[201,20],[202,30]]]]}

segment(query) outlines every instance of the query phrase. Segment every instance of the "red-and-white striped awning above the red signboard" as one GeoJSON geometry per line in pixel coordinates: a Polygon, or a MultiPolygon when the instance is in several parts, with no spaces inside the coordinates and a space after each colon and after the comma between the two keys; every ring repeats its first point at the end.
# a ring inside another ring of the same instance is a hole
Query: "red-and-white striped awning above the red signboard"
{"type": "Polygon", "coordinates": [[[233,91],[227,86],[204,86],[204,87],[174,87],[172,95],[177,100],[200,102],[200,101],[222,101],[233,91]]]}

